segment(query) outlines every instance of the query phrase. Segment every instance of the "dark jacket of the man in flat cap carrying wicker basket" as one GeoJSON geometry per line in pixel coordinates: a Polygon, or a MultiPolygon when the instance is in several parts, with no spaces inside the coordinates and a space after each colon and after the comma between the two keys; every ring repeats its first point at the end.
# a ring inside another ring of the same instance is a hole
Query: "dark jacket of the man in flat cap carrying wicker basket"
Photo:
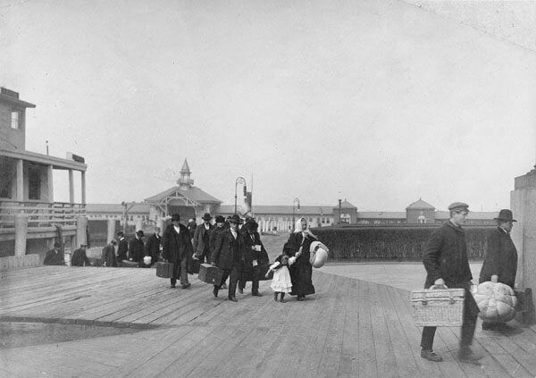
{"type": "Polygon", "coordinates": [[[439,278],[442,278],[449,288],[456,287],[460,282],[471,281],[473,275],[467,259],[464,229],[447,221],[433,231],[426,243],[423,264],[427,273],[425,289],[430,288],[439,278]]]}

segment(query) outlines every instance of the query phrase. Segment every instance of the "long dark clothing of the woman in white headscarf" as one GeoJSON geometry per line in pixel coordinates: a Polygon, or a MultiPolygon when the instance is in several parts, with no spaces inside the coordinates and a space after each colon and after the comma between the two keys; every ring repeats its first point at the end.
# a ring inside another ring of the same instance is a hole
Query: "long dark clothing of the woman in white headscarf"
{"type": "Polygon", "coordinates": [[[289,241],[285,243],[283,252],[289,257],[295,256],[300,246],[302,253],[296,259],[296,263],[289,266],[290,280],[292,281],[292,291],[290,295],[304,296],[314,294],[313,286],[313,265],[309,263],[311,256],[309,248],[316,238],[306,234],[304,238],[302,232],[292,232],[289,241]]]}

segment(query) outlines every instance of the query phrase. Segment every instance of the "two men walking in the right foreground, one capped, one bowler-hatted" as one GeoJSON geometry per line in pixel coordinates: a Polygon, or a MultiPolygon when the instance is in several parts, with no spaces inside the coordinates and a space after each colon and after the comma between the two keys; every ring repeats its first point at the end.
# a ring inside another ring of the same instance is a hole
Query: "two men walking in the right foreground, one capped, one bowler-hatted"
{"type": "MultiPolygon", "coordinates": [[[[446,287],[465,290],[464,318],[457,356],[462,361],[471,362],[480,359],[481,356],[471,349],[479,308],[470,290],[473,275],[467,259],[465,231],[462,228],[469,214],[469,206],[455,202],[448,206],[448,210],[450,219],[433,232],[423,254],[423,264],[427,273],[424,288],[446,287]]],[[[508,209],[500,210],[495,220],[498,227],[490,233],[487,240],[487,251],[479,283],[494,281],[514,288],[517,251],[510,238],[510,231],[516,221],[508,209]]],[[[500,325],[504,324],[498,324],[500,325]]],[[[483,330],[490,328],[490,324],[482,324],[483,330]]],[[[440,362],[443,358],[432,349],[435,332],[436,327],[423,328],[421,357],[440,362]]]]}

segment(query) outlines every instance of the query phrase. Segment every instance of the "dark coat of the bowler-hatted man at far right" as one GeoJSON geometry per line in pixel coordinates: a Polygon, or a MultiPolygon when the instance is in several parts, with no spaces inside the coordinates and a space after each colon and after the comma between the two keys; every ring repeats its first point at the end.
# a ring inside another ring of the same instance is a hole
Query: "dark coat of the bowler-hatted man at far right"
{"type": "Polygon", "coordinates": [[[480,282],[490,281],[498,275],[498,281],[514,287],[517,273],[517,249],[507,231],[500,227],[490,232],[488,248],[482,264],[480,282]]]}

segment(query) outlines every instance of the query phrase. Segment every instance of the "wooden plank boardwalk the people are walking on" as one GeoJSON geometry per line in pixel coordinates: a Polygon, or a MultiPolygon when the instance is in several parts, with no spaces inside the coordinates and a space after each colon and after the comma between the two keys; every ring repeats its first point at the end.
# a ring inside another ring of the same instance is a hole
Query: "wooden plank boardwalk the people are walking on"
{"type": "Polygon", "coordinates": [[[420,357],[406,290],[314,271],[305,302],[214,298],[190,276],[170,289],[153,269],[44,266],[2,272],[0,320],[133,327],[137,332],[0,349],[0,376],[534,377],[536,332],[482,332],[480,365],[456,359],[459,329],[439,330],[445,361],[420,357]]]}

